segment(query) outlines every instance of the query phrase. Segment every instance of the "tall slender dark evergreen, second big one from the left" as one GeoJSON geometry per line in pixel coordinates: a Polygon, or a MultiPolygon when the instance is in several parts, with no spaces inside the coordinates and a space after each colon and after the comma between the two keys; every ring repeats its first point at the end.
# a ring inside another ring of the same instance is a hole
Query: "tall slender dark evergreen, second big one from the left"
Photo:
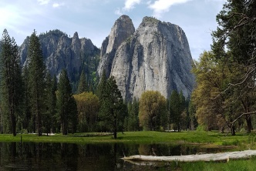
{"type": "Polygon", "coordinates": [[[39,37],[35,35],[35,31],[30,36],[28,60],[32,113],[35,115],[37,132],[42,136],[42,115],[45,112],[45,64],[39,37]]]}

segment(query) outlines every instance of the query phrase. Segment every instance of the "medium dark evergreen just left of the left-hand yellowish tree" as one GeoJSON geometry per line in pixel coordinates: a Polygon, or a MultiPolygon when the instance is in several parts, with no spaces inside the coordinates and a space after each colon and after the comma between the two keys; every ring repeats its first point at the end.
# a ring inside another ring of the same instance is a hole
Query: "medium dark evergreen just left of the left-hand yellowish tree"
{"type": "MultiPolygon", "coordinates": [[[[70,123],[74,123],[74,117],[77,119],[77,109],[75,99],[72,96],[72,88],[65,69],[59,76],[59,85],[57,92],[57,113],[62,126],[62,134],[67,135],[70,123]]],[[[72,124],[73,126],[75,126],[72,124]]],[[[73,127],[75,128],[75,127],[73,127]]]]}

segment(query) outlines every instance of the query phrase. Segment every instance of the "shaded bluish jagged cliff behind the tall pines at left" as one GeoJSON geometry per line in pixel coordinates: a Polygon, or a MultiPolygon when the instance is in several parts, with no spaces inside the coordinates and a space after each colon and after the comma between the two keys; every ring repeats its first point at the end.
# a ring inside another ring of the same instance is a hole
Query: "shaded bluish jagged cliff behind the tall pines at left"
{"type": "MultiPolygon", "coordinates": [[[[93,42],[86,38],[79,39],[77,32],[72,38],[69,38],[65,33],[53,30],[39,35],[39,41],[42,46],[46,69],[52,75],[56,75],[57,78],[59,78],[62,69],[67,69],[69,78],[74,81],[79,78],[79,72],[83,69],[84,62],[99,55],[99,49],[93,45],[93,42]]],[[[19,47],[22,65],[26,65],[28,62],[28,47],[29,37],[19,47]]]]}

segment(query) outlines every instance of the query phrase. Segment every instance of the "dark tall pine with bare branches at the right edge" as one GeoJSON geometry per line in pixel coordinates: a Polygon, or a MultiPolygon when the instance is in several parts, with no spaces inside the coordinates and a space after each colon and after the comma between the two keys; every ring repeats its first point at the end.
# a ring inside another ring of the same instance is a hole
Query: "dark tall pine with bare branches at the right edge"
{"type": "Polygon", "coordinates": [[[256,113],[255,6],[255,1],[228,1],[217,15],[219,27],[212,34],[212,49],[217,59],[232,69],[237,68],[234,79],[229,82],[228,91],[225,91],[225,95],[229,93],[228,98],[225,97],[226,101],[232,102],[233,106],[241,106],[241,109],[231,109],[237,115],[230,121],[231,125],[234,127],[238,118],[244,118],[248,132],[252,129],[251,112],[256,113]]]}

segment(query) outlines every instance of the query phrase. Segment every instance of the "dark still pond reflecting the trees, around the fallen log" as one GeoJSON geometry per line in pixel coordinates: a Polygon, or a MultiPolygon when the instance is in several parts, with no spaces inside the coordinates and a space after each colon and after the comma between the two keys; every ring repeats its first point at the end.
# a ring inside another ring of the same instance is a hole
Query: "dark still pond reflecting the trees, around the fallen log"
{"type": "MultiPolygon", "coordinates": [[[[228,150],[228,149],[227,149],[228,150]]],[[[144,170],[122,158],[131,155],[177,156],[223,149],[166,144],[71,144],[0,142],[0,170],[144,170]]],[[[155,170],[156,168],[151,168],[155,170]]],[[[148,170],[148,168],[145,170],[148,170]]]]}

